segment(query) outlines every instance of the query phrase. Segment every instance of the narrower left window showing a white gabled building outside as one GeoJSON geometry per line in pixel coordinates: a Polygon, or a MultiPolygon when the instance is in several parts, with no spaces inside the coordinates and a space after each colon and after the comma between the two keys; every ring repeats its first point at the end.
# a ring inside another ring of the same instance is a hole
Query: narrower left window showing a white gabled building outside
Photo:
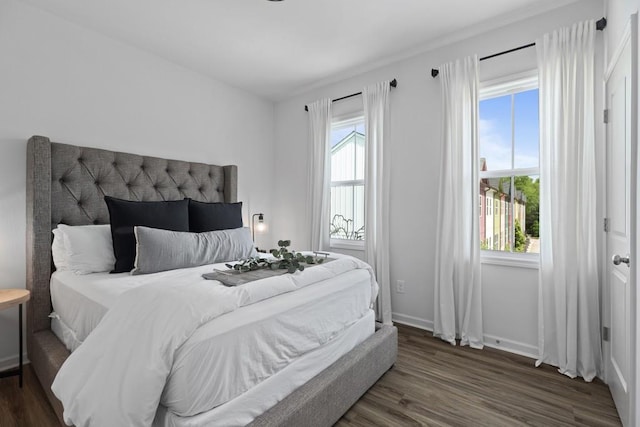
{"type": "Polygon", "coordinates": [[[331,245],[364,241],[364,117],[331,127],[331,245]]]}

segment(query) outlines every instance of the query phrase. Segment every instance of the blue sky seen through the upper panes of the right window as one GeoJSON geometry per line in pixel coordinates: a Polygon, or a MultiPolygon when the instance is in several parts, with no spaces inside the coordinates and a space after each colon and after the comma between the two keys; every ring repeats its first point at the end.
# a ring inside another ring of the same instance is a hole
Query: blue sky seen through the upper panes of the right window
{"type": "MultiPolygon", "coordinates": [[[[538,166],[538,89],[514,95],[514,167],[538,166]]],[[[480,101],[480,157],[487,170],[511,168],[511,95],[480,101]]]]}

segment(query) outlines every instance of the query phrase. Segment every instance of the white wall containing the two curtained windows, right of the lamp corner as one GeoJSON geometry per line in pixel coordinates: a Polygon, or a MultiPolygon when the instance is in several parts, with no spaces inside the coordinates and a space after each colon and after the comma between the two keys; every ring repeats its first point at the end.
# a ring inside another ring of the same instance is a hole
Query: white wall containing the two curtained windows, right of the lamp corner
{"type": "MultiPolygon", "coordinates": [[[[392,289],[396,320],[431,328],[433,272],[440,164],[440,86],[430,70],[477,53],[485,56],[530,43],[545,32],[584,19],[599,19],[600,0],[584,0],[522,22],[494,29],[276,105],[275,220],[272,235],[309,243],[305,222],[307,117],[304,105],[321,97],[359,92],[365,85],[398,79],[391,93],[391,281],[406,281],[406,293],[392,289]]],[[[602,38],[602,35],[598,36],[602,38]]],[[[535,68],[535,49],[481,63],[483,80],[535,68]]],[[[598,99],[600,102],[600,99],[598,99]]],[[[341,112],[362,108],[359,98],[335,103],[341,112]]],[[[483,311],[487,344],[537,354],[537,270],[483,266],[483,311]]]]}

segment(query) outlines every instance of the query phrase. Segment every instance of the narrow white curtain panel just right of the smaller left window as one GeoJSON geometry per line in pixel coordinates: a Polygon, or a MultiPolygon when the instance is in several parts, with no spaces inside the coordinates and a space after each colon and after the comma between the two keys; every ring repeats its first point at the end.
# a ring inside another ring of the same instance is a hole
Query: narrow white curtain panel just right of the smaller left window
{"type": "Polygon", "coordinates": [[[389,82],[367,86],[362,91],[365,122],[365,209],[366,261],[373,267],[380,285],[377,317],[391,324],[389,278],[389,82]]]}

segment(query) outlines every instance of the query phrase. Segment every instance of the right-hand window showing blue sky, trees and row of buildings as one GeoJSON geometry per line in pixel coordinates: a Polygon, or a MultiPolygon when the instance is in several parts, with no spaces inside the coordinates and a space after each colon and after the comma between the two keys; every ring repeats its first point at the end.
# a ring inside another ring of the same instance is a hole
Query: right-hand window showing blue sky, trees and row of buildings
{"type": "Polygon", "coordinates": [[[479,194],[484,250],[538,253],[538,79],[512,78],[480,90],[479,194]],[[494,200],[491,213],[490,198],[494,200]]]}

